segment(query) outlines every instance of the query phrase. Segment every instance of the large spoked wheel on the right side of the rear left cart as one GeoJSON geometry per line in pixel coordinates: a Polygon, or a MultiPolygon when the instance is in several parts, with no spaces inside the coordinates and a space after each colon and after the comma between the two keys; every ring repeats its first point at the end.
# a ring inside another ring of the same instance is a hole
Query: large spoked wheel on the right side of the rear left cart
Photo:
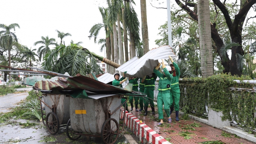
{"type": "Polygon", "coordinates": [[[46,127],[51,134],[57,134],[60,128],[60,123],[57,115],[49,112],[46,116],[46,127]]]}

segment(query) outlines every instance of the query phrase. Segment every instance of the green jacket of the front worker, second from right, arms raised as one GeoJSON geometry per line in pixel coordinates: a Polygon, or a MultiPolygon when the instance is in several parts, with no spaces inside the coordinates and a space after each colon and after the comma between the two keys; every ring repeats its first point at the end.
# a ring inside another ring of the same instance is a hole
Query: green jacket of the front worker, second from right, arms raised
{"type": "Polygon", "coordinates": [[[173,76],[170,74],[170,72],[166,68],[163,69],[163,72],[165,73],[165,76],[158,70],[154,69],[154,73],[160,78],[158,82],[157,90],[167,93],[171,89],[173,76]]]}

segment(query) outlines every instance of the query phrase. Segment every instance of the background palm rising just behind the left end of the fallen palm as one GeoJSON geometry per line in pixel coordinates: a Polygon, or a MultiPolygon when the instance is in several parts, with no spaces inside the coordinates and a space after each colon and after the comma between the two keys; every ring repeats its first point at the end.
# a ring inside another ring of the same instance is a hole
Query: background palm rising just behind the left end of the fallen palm
{"type": "Polygon", "coordinates": [[[37,54],[39,55],[39,61],[41,61],[41,58],[44,57],[45,54],[47,54],[47,52],[50,50],[49,48],[50,45],[56,45],[55,43],[56,40],[54,38],[49,39],[48,35],[46,37],[42,36],[41,38],[42,40],[34,43],[34,45],[43,44],[37,50],[37,54]]]}

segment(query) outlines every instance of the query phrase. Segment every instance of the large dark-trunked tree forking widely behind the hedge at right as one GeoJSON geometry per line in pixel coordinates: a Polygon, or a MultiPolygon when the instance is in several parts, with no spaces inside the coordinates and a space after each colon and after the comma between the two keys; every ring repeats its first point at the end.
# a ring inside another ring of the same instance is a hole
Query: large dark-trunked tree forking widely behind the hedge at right
{"type": "MultiPolygon", "coordinates": [[[[198,22],[198,15],[197,15],[197,2],[187,0],[181,2],[179,0],[175,0],[178,6],[182,8],[186,13],[189,14],[190,18],[198,22]]],[[[215,10],[216,10],[216,17],[219,17],[222,12],[223,17],[225,18],[225,24],[228,28],[228,33],[230,35],[230,40],[235,43],[239,43],[242,45],[242,31],[243,31],[243,24],[246,19],[246,15],[250,8],[256,3],[255,0],[246,0],[241,1],[240,5],[237,5],[237,1],[234,3],[226,3],[226,1],[221,2],[220,0],[212,0],[214,2],[215,10]],[[239,11],[231,14],[230,9],[234,9],[238,7],[239,11]]],[[[220,54],[220,49],[224,45],[224,39],[221,37],[220,30],[218,29],[218,25],[224,25],[223,23],[218,23],[216,19],[211,19],[211,38],[215,43],[216,51],[220,54]]],[[[225,28],[225,26],[223,26],[225,28]]],[[[236,54],[244,54],[244,51],[241,46],[235,46],[231,49],[231,59],[228,58],[226,53],[227,61],[223,61],[221,59],[221,64],[224,67],[223,72],[231,72],[231,74],[241,75],[241,72],[237,69],[237,58],[236,54]]]]}

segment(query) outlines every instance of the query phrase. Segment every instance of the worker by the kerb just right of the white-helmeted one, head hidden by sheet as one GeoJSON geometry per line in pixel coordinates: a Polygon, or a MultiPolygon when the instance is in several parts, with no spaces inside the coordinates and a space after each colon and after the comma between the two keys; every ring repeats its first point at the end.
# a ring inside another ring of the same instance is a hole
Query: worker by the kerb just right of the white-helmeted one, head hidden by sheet
{"type": "MultiPolygon", "coordinates": [[[[132,90],[139,91],[138,90],[138,87],[139,87],[138,79],[136,77],[129,78],[129,83],[132,83],[132,90]]],[[[134,102],[135,111],[138,111],[139,97],[129,96],[129,102],[131,104],[131,111],[133,110],[133,99],[135,100],[135,102],[134,102]]]]}

